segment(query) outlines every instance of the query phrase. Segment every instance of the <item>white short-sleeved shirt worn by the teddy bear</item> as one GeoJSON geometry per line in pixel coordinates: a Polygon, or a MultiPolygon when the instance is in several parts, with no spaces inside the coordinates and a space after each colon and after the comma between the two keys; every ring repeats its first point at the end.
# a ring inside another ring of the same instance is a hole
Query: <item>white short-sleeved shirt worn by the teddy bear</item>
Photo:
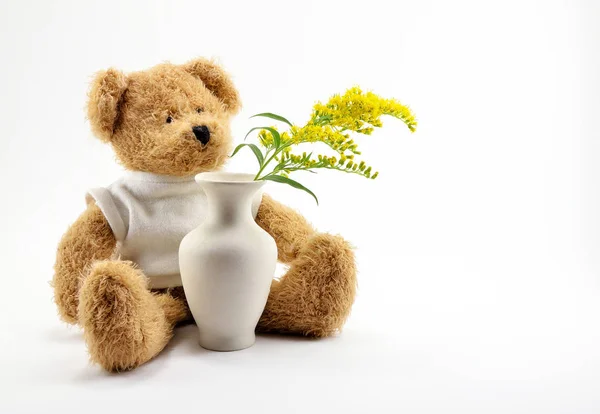
{"type": "MultiPolygon", "coordinates": [[[[261,194],[252,203],[256,217],[261,194]]],[[[204,191],[194,176],[173,177],[127,172],[106,188],[86,195],[95,201],[117,239],[117,254],[136,263],[150,287],[181,286],[179,244],[207,213],[204,191]]]]}

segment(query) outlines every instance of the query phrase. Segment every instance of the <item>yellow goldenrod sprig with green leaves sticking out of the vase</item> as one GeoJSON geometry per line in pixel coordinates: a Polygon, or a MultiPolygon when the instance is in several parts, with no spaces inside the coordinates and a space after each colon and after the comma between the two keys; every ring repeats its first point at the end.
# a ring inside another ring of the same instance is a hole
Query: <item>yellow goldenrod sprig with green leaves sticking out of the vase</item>
{"type": "MultiPolygon", "coordinates": [[[[306,191],[319,203],[317,196],[299,182],[289,178],[294,171],[315,172],[317,169],[338,170],[374,179],[377,172],[364,161],[355,156],[361,155],[358,145],[350,133],[371,135],[375,128],[383,126],[381,117],[389,115],[400,119],[411,132],[417,127],[417,121],[411,110],[395,99],[385,99],[372,92],[363,92],[359,87],[350,88],[344,95],[332,96],[326,104],[317,102],[313,107],[310,120],[303,127],[293,125],[286,118],[270,112],[254,115],[283,122],[289,126],[287,131],[280,132],[275,126],[255,127],[246,134],[246,139],[253,131],[258,132],[259,144],[243,143],[236,147],[231,156],[243,148],[252,150],[259,164],[255,180],[269,180],[291,185],[306,191]],[[303,143],[321,142],[337,153],[337,156],[313,152],[295,154],[292,147],[303,143]],[[272,170],[267,167],[276,164],[272,170]]],[[[252,118],[253,118],[252,117],[252,118]]]]}

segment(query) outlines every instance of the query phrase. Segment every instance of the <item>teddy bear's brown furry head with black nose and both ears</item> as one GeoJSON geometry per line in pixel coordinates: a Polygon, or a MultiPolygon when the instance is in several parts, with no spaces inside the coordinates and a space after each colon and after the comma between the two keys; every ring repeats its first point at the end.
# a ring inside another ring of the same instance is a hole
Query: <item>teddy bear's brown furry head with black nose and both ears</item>
{"type": "Polygon", "coordinates": [[[223,69],[199,58],[130,74],[99,72],[87,109],[92,131],[125,168],[188,176],[227,160],[229,120],[240,99],[223,69]]]}

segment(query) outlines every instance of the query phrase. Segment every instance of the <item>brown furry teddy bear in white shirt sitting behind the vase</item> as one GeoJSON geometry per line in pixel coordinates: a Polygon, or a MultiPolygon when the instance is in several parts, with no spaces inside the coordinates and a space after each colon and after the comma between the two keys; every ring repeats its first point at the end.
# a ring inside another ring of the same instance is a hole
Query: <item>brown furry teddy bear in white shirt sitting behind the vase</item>
{"type": "MultiPolygon", "coordinates": [[[[179,232],[164,236],[162,256],[154,257],[144,241],[157,236],[156,214],[145,215],[143,199],[183,206],[202,197],[199,186],[188,184],[195,174],[217,170],[228,159],[229,121],[239,109],[231,79],[202,58],[127,75],[109,69],[95,77],[88,102],[92,130],[112,145],[132,175],[90,191],[87,209],[58,246],[53,287],[62,319],[83,328],[91,359],[105,369],[143,364],[165,347],[177,324],[191,320],[179,276],[161,272],[173,273],[167,269],[177,266],[177,252],[166,250],[176,249],[201,218],[190,217],[189,228],[178,224],[179,232]],[[144,187],[148,183],[151,187],[144,187]],[[176,198],[186,185],[193,194],[176,198]],[[142,187],[146,193],[140,195],[142,187]],[[166,265],[146,269],[149,256],[166,265]]],[[[177,210],[161,213],[163,225],[181,222],[177,210]]],[[[275,239],[278,259],[289,265],[272,283],[257,331],[312,337],[339,331],[356,290],[349,245],[338,236],[316,233],[301,215],[268,195],[260,201],[256,222],[275,239]]]]}

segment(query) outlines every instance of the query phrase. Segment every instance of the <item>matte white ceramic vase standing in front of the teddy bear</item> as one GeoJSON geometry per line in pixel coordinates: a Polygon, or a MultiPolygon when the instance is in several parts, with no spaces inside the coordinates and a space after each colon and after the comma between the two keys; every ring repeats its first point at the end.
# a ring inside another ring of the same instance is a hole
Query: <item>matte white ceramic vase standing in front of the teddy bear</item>
{"type": "Polygon", "coordinates": [[[252,346],[277,262],[277,246],[252,216],[252,199],[264,185],[251,174],[202,173],[196,182],[208,198],[206,219],[179,247],[183,289],[200,331],[214,351],[252,346]]]}

